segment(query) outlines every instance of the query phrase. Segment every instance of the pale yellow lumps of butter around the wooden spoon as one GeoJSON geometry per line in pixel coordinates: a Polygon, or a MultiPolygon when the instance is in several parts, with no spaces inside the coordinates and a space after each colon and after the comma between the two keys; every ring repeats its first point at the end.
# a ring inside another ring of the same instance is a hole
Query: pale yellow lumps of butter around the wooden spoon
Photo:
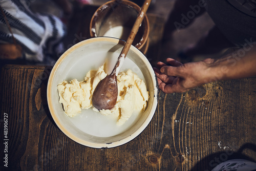
{"type": "Polygon", "coordinates": [[[92,106],[92,94],[100,80],[107,74],[104,65],[98,70],[91,70],[86,74],[84,81],[73,79],[68,83],[66,80],[57,86],[59,103],[69,117],[81,113],[82,109],[93,108],[95,112],[117,118],[117,125],[122,125],[129,120],[134,111],[144,111],[149,98],[146,85],[132,70],[120,72],[117,75],[118,97],[117,103],[111,110],[97,110],[92,106]]]}

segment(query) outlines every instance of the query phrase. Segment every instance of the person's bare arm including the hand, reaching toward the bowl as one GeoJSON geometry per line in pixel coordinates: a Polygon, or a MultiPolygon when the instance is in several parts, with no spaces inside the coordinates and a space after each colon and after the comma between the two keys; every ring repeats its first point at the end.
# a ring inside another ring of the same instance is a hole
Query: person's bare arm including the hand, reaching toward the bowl
{"type": "Polygon", "coordinates": [[[167,66],[158,62],[155,70],[159,89],[164,93],[184,92],[204,83],[250,77],[256,75],[256,46],[228,54],[220,59],[205,59],[184,65],[172,58],[167,58],[167,66]]]}

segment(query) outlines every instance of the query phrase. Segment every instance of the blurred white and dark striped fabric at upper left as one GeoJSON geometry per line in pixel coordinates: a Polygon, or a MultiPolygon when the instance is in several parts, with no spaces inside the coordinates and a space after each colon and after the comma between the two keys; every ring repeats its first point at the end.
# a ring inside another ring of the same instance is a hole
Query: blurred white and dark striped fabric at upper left
{"type": "MultiPolygon", "coordinates": [[[[56,56],[62,50],[65,25],[56,16],[30,10],[26,0],[0,0],[17,44],[26,59],[41,62],[46,56],[56,56]]],[[[0,44],[13,43],[4,16],[0,12],[0,44]]]]}

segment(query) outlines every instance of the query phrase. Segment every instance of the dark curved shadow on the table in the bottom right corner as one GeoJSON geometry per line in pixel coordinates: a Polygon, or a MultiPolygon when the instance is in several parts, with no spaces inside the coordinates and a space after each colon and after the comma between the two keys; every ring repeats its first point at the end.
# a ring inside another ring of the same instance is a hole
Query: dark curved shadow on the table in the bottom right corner
{"type": "Polygon", "coordinates": [[[225,152],[209,155],[203,158],[202,160],[200,160],[200,162],[198,162],[191,169],[191,171],[202,170],[201,168],[206,168],[205,170],[202,170],[202,171],[208,171],[213,169],[218,164],[225,162],[227,160],[232,160],[232,159],[244,159],[244,160],[256,162],[255,160],[253,160],[253,158],[248,157],[245,154],[242,154],[244,151],[253,151],[254,153],[256,153],[256,144],[246,143],[243,146],[241,146],[237,152],[225,151],[225,152]]]}

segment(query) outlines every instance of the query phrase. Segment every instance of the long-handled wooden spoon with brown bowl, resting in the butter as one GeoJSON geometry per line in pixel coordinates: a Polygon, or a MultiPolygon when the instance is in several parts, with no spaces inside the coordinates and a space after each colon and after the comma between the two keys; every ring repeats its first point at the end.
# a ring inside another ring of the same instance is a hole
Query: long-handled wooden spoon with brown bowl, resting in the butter
{"type": "Polygon", "coordinates": [[[145,0],[140,12],[137,16],[137,19],[134,23],[134,26],[130,32],[128,39],[126,40],[123,49],[117,59],[116,65],[112,73],[102,79],[97,87],[95,88],[92,95],[92,104],[98,110],[107,110],[114,108],[117,100],[118,90],[117,90],[117,75],[120,71],[120,68],[123,64],[123,61],[133,43],[134,37],[136,36],[139,27],[142,23],[142,20],[146,14],[148,7],[150,6],[151,0],[145,0]]]}

